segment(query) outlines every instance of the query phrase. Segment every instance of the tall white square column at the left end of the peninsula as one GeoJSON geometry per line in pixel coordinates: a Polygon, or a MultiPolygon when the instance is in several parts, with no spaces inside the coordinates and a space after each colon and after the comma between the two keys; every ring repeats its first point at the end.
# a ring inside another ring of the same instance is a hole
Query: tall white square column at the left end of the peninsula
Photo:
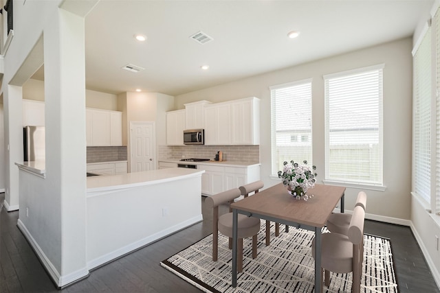
{"type": "MultiPolygon", "coordinates": [[[[46,189],[61,287],[84,277],[86,247],[85,19],[60,9],[44,31],[46,189]],[[56,202],[56,204],[52,204],[56,202]]],[[[49,251],[47,253],[50,253],[49,251]]]]}

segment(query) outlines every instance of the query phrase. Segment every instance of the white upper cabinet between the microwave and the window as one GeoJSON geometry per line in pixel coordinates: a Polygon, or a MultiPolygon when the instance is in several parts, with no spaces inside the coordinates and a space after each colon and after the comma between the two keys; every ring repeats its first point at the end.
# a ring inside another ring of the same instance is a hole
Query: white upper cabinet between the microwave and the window
{"type": "Polygon", "coordinates": [[[205,106],[206,145],[259,145],[260,99],[247,97],[205,106]]]}

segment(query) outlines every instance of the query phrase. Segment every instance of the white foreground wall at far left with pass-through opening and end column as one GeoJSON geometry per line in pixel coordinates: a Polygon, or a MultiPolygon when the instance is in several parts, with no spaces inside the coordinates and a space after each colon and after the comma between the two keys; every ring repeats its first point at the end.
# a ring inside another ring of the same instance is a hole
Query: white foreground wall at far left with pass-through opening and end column
{"type": "MultiPolygon", "coordinates": [[[[20,201],[19,224],[59,286],[87,275],[84,19],[95,1],[14,1],[14,38],[4,58],[6,188],[20,201]],[[85,8],[85,9],[81,9],[85,8]],[[39,44],[42,44],[39,47],[39,44]],[[20,173],[22,86],[45,64],[45,178],[20,173]],[[36,65],[39,65],[36,67],[36,65]],[[63,65],[63,66],[62,66],[63,65]],[[29,211],[27,214],[26,211],[29,211]]],[[[17,204],[18,206],[18,204],[17,204]]]]}

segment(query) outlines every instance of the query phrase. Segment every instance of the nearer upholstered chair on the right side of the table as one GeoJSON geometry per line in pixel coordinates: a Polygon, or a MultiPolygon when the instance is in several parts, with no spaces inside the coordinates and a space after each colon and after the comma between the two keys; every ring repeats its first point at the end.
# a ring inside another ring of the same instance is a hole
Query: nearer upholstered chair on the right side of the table
{"type": "MultiPolygon", "coordinates": [[[[325,285],[330,284],[330,272],[353,272],[351,292],[360,292],[364,245],[365,211],[361,206],[355,207],[347,235],[339,233],[322,234],[321,274],[325,271],[325,285]]],[[[311,246],[315,258],[315,239],[311,246]]],[[[322,292],[322,283],[321,283],[322,292]]]]}

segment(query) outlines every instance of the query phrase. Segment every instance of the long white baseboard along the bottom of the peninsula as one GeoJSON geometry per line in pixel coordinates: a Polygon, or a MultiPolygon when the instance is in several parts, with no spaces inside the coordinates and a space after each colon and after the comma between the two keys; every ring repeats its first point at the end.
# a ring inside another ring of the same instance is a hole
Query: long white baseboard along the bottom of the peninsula
{"type": "Polygon", "coordinates": [[[151,244],[152,242],[155,242],[158,239],[161,239],[163,237],[166,237],[170,234],[173,234],[177,231],[180,231],[184,228],[187,228],[188,226],[191,226],[193,224],[196,224],[203,220],[202,215],[197,215],[196,217],[190,218],[189,220],[186,220],[185,222],[181,222],[175,226],[171,226],[169,228],[166,228],[165,230],[159,231],[153,235],[150,235],[148,237],[145,237],[143,239],[137,240],[136,242],[133,242],[129,245],[126,245],[124,247],[121,247],[117,250],[112,251],[111,253],[107,253],[106,255],[102,255],[101,257],[97,257],[96,259],[91,259],[90,261],[87,261],[87,268],[91,270],[92,268],[96,268],[98,266],[101,266],[104,263],[107,263],[109,261],[112,261],[113,259],[117,259],[118,257],[121,257],[122,255],[126,255],[127,253],[130,253],[133,250],[136,250],[137,248],[141,248],[142,246],[145,246],[147,244],[151,244]]]}

